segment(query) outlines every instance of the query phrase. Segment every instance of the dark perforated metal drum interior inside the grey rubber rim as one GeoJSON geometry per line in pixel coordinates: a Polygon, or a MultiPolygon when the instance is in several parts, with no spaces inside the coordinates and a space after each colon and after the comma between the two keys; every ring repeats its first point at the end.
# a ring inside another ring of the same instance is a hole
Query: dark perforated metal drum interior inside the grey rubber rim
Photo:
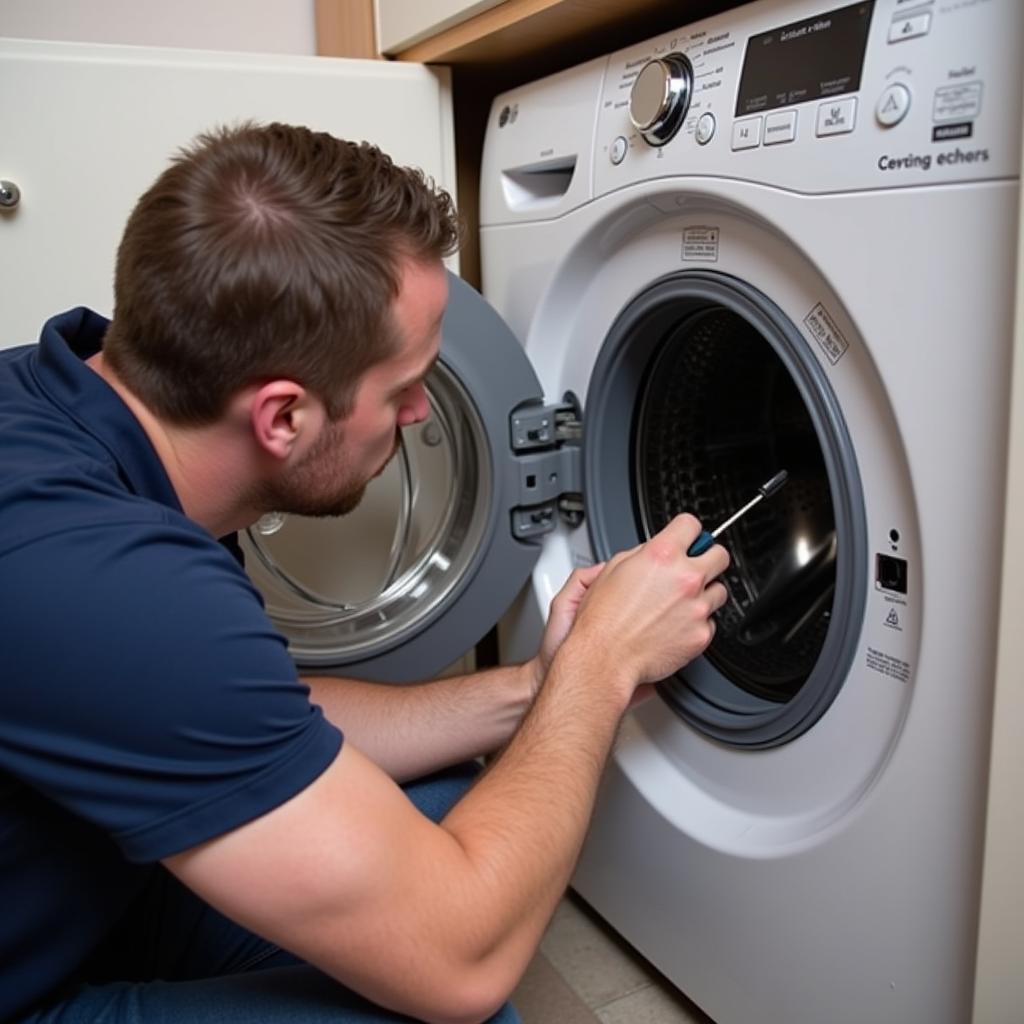
{"type": "Polygon", "coordinates": [[[836,590],[836,515],[821,445],[793,378],[737,313],[685,318],[639,403],[637,512],[650,537],[681,511],[712,528],[784,469],[782,489],[720,539],[729,601],[708,657],[741,689],[785,701],[821,653],[836,590]]]}

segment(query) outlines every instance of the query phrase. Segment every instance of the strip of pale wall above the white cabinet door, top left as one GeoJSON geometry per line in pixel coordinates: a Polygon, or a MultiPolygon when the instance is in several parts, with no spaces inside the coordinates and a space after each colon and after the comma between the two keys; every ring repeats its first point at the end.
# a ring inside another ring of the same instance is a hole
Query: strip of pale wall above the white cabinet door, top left
{"type": "Polygon", "coordinates": [[[0,0],[0,35],[262,53],[316,52],[313,0],[0,0]]]}

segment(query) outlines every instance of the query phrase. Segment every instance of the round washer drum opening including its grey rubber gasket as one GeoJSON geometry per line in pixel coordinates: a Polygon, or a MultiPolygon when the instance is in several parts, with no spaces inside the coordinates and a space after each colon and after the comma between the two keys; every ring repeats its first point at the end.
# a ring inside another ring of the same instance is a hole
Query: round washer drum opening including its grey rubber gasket
{"type": "Polygon", "coordinates": [[[773,745],[809,728],[852,659],[863,503],[841,410],[792,322],[725,274],[665,279],[609,333],[585,424],[586,504],[602,557],[680,512],[714,528],[786,471],[785,485],[720,538],[731,564],[715,639],[660,691],[730,743],[773,745]]]}

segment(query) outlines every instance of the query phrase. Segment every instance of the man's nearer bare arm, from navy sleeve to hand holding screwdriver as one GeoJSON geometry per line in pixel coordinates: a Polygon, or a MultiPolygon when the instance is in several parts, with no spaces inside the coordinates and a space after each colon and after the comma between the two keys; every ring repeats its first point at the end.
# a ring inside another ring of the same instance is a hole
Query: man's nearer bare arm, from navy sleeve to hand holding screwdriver
{"type": "Polygon", "coordinates": [[[168,866],[385,1007],[430,1021],[485,1018],[564,891],[634,691],[711,640],[725,600],[712,581],[728,556],[714,547],[687,558],[697,532],[679,517],[608,563],[578,601],[521,728],[440,825],[346,743],[297,797],[168,866]]]}

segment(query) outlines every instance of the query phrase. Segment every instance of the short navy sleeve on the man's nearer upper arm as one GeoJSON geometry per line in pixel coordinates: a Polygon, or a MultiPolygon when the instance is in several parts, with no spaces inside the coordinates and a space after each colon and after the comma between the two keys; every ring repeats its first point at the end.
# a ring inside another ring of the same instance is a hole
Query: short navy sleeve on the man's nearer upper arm
{"type": "Polygon", "coordinates": [[[134,861],[284,803],[337,756],[259,595],[183,517],[68,529],[3,559],[4,767],[134,861]]]}

